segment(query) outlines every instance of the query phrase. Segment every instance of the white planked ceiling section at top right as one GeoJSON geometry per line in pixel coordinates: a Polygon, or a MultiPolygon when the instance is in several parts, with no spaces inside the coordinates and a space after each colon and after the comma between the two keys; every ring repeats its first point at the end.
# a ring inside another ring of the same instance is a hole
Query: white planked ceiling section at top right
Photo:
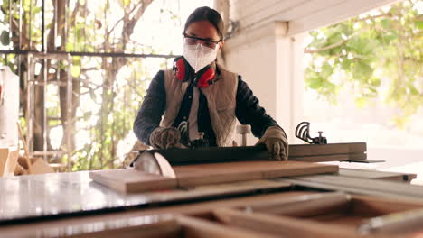
{"type": "Polygon", "coordinates": [[[230,0],[230,7],[237,13],[230,15],[230,19],[239,21],[240,32],[259,29],[272,22],[287,22],[287,35],[295,35],[395,2],[399,0],[262,0],[253,3],[230,0]]]}

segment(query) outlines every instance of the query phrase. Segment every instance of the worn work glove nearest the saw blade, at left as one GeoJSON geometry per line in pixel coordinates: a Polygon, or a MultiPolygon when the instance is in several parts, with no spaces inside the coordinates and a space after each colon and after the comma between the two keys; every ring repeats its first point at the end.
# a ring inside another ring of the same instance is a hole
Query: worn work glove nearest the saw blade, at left
{"type": "Polygon", "coordinates": [[[181,133],[174,127],[157,127],[150,135],[150,144],[155,149],[169,149],[181,141],[181,133]]]}

